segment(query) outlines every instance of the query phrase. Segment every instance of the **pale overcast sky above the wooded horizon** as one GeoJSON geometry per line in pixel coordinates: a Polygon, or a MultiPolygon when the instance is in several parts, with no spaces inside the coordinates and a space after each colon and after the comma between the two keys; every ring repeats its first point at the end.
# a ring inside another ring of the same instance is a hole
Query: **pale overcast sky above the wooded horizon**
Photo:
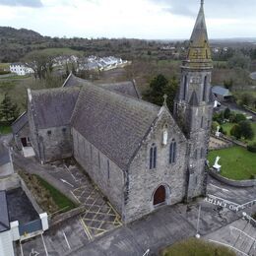
{"type": "MultiPolygon", "coordinates": [[[[0,26],[43,35],[189,38],[200,0],[0,0],[0,26]]],[[[256,37],[256,0],[205,0],[209,37],[256,37]]]]}

